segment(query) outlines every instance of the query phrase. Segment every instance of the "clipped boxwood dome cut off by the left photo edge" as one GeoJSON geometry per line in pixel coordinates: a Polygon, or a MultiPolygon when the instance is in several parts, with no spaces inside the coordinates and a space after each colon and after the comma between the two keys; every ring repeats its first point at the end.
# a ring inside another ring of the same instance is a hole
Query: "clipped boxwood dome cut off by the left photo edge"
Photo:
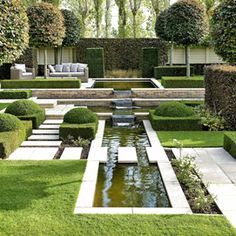
{"type": "Polygon", "coordinates": [[[0,132],[14,131],[23,127],[22,122],[11,114],[0,114],[0,132]]]}

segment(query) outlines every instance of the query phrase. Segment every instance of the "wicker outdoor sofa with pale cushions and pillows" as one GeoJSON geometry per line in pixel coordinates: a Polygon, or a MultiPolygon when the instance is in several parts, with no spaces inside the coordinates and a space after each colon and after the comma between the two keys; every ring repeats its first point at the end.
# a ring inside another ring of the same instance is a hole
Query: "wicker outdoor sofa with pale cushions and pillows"
{"type": "Polygon", "coordinates": [[[62,63],[61,65],[48,65],[48,77],[76,77],[81,82],[88,82],[89,68],[82,63],[62,63]]]}

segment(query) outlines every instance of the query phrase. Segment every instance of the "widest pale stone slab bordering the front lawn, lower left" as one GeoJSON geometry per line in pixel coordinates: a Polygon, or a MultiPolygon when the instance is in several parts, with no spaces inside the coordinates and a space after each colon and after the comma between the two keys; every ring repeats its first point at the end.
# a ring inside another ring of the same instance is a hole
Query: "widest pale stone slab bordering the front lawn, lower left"
{"type": "Polygon", "coordinates": [[[52,160],[58,148],[18,148],[9,160],[52,160]]]}

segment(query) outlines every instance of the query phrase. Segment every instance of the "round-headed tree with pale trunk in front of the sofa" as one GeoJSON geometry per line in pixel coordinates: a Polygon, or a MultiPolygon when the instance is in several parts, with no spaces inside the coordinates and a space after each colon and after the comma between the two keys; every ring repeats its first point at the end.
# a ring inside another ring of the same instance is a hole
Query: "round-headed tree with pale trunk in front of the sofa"
{"type": "Polygon", "coordinates": [[[47,47],[62,45],[65,37],[61,11],[50,3],[39,3],[27,10],[30,46],[44,48],[44,77],[47,77],[47,47]]]}

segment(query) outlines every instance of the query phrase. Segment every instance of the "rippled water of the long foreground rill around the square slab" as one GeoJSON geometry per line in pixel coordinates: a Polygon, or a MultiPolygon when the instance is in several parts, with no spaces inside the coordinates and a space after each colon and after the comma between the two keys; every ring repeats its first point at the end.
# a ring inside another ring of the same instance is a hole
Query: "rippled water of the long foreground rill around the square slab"
{"type": "Polygon", "coordinates": [[[113,127],[107,122],[103,147],[108,160],[99,165],[93,207],[171,207],[158,166],[149,164],[150,144],[142,124],[113,127]],[[120,147],[136,148],[138,163],[118,164],[120,147]]]}

